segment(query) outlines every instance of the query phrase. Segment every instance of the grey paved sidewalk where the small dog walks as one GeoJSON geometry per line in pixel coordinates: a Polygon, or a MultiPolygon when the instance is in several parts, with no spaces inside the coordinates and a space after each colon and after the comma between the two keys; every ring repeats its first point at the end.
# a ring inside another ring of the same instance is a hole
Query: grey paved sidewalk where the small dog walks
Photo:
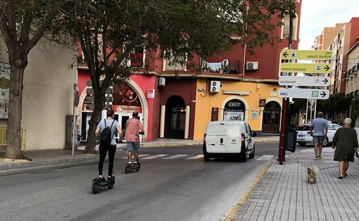
{"type": "MultiPolygon", "coordinates": [[[[298,151],[298,150],[297,150],[298,151]]],[[[305,149],[275,160],[249,195],[234,220],[359,220],[359,160],[349,163],[348,177],[337,179],[334,149],[323,148],[323,159],[305,149]],[[317,166],[317,183],[307,183],[307,168],[317,166]]]]}

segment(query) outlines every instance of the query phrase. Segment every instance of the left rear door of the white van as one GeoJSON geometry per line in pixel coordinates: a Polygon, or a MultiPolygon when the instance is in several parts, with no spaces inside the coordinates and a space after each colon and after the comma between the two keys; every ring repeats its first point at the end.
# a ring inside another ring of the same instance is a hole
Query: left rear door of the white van
{"type": "Polygon", "coordinates": [[[227,124],[209,125],[206,143],[208,153],[227,153],[227,124]]]}

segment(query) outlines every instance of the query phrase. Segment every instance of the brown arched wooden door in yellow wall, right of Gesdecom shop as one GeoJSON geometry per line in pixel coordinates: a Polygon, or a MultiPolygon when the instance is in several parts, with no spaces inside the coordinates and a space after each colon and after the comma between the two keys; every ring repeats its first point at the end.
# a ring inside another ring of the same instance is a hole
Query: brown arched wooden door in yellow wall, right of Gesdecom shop
{"type": "Polygon", "coordinates": [[[279,134],[280,129],[280,105],[270,101],[263,111],[262,132],[264,134],[279,134]]]}

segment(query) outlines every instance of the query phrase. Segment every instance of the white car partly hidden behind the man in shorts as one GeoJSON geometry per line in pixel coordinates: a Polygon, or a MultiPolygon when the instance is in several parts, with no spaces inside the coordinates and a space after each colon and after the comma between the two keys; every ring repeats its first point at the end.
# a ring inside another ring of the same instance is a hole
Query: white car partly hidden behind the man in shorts
{"type": "MultiPolygon", "coordinates": [[[[341,127],[342,126],[337,124],[328,124],[328,134],[327,134],[327,138],[324,140],[323,146],[327,146],[328,144],[332,143],[335,132],[341,127]]],[[[305,146],[306,144],[313,144],[313,137],[310,134],[308,134],[308,132],[310,131],[311,131],[310,124],[304,124],[298,127],[297,143],[300,146],[305,146]]]]}

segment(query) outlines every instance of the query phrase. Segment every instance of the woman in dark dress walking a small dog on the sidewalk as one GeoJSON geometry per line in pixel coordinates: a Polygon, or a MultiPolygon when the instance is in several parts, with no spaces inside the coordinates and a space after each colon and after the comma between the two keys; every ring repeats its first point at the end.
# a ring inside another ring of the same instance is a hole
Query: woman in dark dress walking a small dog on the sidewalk
{"type": "Polygon", "coordinates": [[[358,138],[356,130],[350,128],[351,119],[344,120],[343,128],[339,128],[333,138],[332,148],[335,149],[334,160],[339,161],[339,177],[346,177],[346,170],[349,167],[349,161],[354,162],[354,153],[358,152],[358,138]]]}

